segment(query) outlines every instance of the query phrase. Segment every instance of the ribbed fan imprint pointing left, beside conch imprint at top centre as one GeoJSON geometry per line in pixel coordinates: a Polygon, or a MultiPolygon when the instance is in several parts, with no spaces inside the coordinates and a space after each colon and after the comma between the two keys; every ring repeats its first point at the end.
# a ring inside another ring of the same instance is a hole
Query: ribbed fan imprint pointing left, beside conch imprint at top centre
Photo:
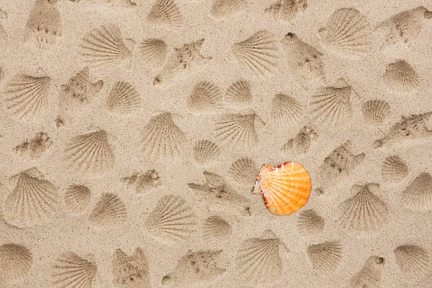
{"type": "Polygon", "coordinates": [[[272,73],[277,66],[277,40],[268,30],[260,30],[248,39],[232,45],[232,51],[241,64],[253,73],[272,73]]]}

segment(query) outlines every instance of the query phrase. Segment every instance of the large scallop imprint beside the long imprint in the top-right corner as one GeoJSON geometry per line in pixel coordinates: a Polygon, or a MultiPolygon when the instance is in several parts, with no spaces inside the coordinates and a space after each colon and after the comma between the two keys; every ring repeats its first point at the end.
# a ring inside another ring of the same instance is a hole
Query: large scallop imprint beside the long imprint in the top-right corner
{"type": "Polygon", "coordinates": [[[325,28],[318,30],[321,44],[346,56],[364,56],[372,51],[373,32],[366,16],[357,9],[337,9],[325,28]]]}

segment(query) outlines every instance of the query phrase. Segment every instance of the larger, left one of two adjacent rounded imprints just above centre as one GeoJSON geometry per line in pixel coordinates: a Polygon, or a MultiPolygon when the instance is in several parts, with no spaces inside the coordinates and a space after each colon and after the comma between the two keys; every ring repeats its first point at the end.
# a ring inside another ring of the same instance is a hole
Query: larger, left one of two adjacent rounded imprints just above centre
{"type": "Polygon", "coordinates": [[[188,108],[196,112],[214,111],[222,107],[222,92],[208,81],[196,83],[188,97],[188,108]]]}

